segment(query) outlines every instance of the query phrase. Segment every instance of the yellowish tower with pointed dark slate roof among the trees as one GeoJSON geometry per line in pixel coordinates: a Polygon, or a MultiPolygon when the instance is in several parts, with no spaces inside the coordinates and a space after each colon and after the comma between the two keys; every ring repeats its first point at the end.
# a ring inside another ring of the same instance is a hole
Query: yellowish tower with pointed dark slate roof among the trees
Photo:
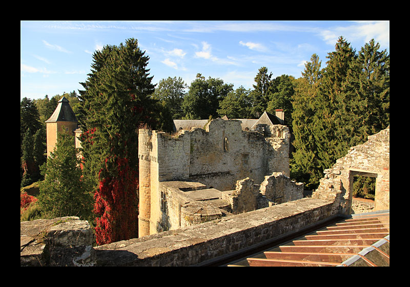
{"type": "Polygon", "coordinates": [[[57,108],[51,117],[46,120],[47,127],[47,157],[54,151],[57,144],[57,132],[66,131],[74,136],[78,121],[70,107],[69,100],[64,96],[58,101],[57,108]]]}

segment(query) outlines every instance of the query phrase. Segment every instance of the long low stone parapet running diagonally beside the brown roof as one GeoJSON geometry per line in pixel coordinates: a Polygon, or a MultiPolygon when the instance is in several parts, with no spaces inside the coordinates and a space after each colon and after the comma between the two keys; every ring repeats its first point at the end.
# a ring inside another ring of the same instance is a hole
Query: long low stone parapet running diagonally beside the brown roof
{"type": "Polygon", "coordinates": [[[303,198],[194,226],[96,247],[97,266],[201,265],[330,219],[332,202],[303,198]]]}

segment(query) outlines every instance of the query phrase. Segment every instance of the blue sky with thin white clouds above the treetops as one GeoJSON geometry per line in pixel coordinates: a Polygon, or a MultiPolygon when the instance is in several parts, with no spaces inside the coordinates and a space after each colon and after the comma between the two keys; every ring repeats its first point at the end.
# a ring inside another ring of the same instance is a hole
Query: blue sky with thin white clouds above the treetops
{"type": "Polygon", "coordinates": [[[93,52],[128,38],[150,57],[154,84],[201,73],[250,89],[260,67],[298,78],[316,53],[324,68],[339,36],[390,53],[389,21],[20,21],[20,100],[78,93],[93,52]]]}

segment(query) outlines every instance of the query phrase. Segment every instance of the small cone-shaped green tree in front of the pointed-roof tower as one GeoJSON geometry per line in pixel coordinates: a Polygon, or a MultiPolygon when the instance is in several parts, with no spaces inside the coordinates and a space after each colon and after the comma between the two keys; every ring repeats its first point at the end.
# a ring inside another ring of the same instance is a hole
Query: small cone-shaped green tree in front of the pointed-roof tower
{"type": "Polygon", "coordinates": [[[91,219],[92,195],[84,187],[73,136],[58,133],[56,149],[42,166],[42,175],[38,204],[44,217],[91,219]]]}

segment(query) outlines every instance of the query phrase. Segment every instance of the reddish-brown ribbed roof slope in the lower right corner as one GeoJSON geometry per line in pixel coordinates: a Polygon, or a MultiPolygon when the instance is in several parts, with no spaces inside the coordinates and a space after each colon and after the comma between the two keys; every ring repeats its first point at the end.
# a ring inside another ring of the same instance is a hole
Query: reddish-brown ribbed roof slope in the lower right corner
{"type": "Polygon", "coordinates": [[[358,214],[228,266],[389,266],[389,219],[358,214]]]}

